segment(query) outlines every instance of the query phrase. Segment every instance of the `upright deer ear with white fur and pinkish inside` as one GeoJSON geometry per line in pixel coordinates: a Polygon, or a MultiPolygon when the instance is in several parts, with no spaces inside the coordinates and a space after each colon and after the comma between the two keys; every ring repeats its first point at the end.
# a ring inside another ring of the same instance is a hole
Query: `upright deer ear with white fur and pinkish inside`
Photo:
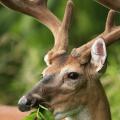
{"type": "Polygon", "coordinates": [[[105,42],[97,38],[91,48],[91,63],[96,66],[96,72],[100,71],[107,57],[105,42]]]}

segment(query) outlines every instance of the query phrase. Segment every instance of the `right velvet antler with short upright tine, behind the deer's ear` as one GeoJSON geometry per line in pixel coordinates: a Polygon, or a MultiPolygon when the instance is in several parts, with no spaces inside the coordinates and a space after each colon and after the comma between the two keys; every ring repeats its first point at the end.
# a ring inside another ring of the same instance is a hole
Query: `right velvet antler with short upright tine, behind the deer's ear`
{"type": "Polygon", "coordinates": [[[106,20],[105,31],[82,47],[73,49],[72,56],[79,57],[81,64],[84,64],[89,60],[87,58],[90,57],[91,46],[97,38],[103,38],[107,46],[116,42],[120,38],[120,26],[115,25],[115,15],[116,12],[110,10],[106,20]]]}

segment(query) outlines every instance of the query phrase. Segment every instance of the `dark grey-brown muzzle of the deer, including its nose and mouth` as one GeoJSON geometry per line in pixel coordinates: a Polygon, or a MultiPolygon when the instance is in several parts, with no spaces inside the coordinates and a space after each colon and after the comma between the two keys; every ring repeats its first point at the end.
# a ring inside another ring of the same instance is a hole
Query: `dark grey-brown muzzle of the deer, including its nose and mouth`
{"type": "Polygon", "coordinates": [[[18,108],[20,111],[30,111],[32,108],[37,108],[39,105],[48,107],[47,104],[47,93],[46,89],[49,81],[51,81],[51,76],[45,77],[37,83],[32,90],[30,90],[26,95],[20,98],[18,102],[18,108]]]}

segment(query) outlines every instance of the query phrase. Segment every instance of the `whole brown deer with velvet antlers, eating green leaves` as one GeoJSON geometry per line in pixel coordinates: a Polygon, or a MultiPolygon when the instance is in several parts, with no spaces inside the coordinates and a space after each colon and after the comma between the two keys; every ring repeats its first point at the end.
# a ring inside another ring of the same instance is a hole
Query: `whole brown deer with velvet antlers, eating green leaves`
{"type": "Polygon", "coordinates": [[[47,107],[55,120],[111,120],[110,105],[100,78],[107,69],[107,47],[120,38],[114,10],[105,30],[88,43],[68,53],[73,1],[67,0],[63,20],[47,7],[47,0],[0,0],[3,5],[30,15],[47,26],[54,46],[45,55],[42,79],[18,102],[22,112],[39,105],[47,107]]]}

